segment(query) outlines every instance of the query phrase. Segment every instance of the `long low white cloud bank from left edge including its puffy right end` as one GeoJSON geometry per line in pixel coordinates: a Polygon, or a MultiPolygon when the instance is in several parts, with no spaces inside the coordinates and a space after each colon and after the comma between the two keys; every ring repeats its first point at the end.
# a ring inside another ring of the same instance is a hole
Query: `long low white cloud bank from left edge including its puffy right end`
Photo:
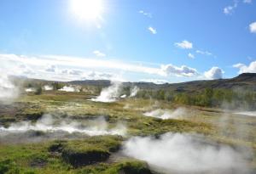
{"type": "Polygon", "coordinates": [[[11,75],[27,76],[30,78],[44,78],[45,80],[72,81],[96,76],[107,79],[121,78],[123,73],[132,72],[156,76],[195,76],[197,71],[186,65],[148,65],[143,63],[127,63],[113,59],[89,59],[60,55],[25,56],[15,54],[0,54],[0,68],[9,70],[11,75]],[[17,65],[26,65],[33,73],[17,70],[17,65]],[[45,69],[45,67],[47,67],[45,69]],[[57,67],[57,68],[56,68],[57,67]],[[16,71],[17,70],[17,71],[16,71]],[[93,71],[93,72],[91,72],[93,71]],[[98,72],[98,73],[96,73],[98,72]],[[108,72],[108,73],[105,73],[108,72]],[[65,74],[65,76],[63,76],[65,74]]]}

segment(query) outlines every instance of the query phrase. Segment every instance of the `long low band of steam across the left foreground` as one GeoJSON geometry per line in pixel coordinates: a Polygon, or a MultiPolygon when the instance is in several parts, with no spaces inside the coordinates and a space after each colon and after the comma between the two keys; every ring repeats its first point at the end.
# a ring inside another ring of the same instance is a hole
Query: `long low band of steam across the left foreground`
{"type": "Polygon", "coordinates": [[[125,135],[125,126],[118,124],[116,127],[109,129],[108,122],[103,117],[99,117],[96,120],[81,122],[72,121],[70,119],[54,119],[52,115],[44,115],[36,123],[31,121],[23,121],[19,123],[13,123],[9,127],[5,128],[0,126],[0,134],[6,132],[67,132],[67,133],[84,133],[89,136],[96,135],[125,135]]]}

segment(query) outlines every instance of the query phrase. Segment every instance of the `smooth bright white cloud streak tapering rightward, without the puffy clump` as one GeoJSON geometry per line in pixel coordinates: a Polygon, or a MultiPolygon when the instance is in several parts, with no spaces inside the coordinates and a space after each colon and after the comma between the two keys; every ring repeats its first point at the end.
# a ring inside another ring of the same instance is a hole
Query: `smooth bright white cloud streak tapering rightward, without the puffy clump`
{"type": "MultiPolygon", "coordinates": [[[[33,67],[38,73],[44,73],[45,67],[49,65],[58,66],[59,72],[67,69],[76,69],[76,70],[122,70],[130,72],[139,72],[146,74],[160,75],[160,68],[148,67],[145,65],[131,64],[118,60],[112,59],[90,59],[90,58],[80,58],[72,56],[60,56],[60,55],[44,55],[44,56],[24,56],[24,55],[15,55],[15,54],[0,54],[1,68],[5,70],[11,70],[10,73],[16,73],[14,67],[17,64],[24,64],[29,67],[33,67]],[[63,68],[64,67],[64,68],[63,68]]],[[[52,74],[52,73],[51,73],[52,74]]],[[[15,74],[17,75],[17,74],[15,74]]],[[[50,75],[52,76],[52,75],[50,75]]],[[[42,77],[42,76],[40,76],[42,77]]],[[[48,77],[48,76],[44,76],[48,77]]],[[[63,76],[62,76],[63,77],[63,76]]]]}

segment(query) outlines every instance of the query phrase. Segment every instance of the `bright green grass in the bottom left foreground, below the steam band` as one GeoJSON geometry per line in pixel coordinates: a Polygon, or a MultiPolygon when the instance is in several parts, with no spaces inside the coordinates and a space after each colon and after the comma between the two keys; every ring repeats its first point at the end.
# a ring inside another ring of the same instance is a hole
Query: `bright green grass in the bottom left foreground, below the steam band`
{"type": "MultiPolygon", "coordinates": [[[[119,149],[122,138],[117,136],[96,136],[83,140],[54,141],[45,143],[29,143],[0,146],[0,173],[106,173],[118,174],[119,171],[141,173],[148,166],[138,160],[125,160],[106,163],[102,160],[92,161],[84,166],[74,166],[65,159],[67,152],[72,154],[111,154],[119,149]],[[61,144],[61,146],[60,146],[61,144]],[[58,145],[58,150],[55,149],[58,145]],[[61,147],[61,148],[60,148],[61,147]],[[66,154],[65,154],[66,153],[66,154]],[[63,154],[65,154],[63,156],[63,154]]],[[[81,160],[81,159],[78,159],[81,160]]]]}

